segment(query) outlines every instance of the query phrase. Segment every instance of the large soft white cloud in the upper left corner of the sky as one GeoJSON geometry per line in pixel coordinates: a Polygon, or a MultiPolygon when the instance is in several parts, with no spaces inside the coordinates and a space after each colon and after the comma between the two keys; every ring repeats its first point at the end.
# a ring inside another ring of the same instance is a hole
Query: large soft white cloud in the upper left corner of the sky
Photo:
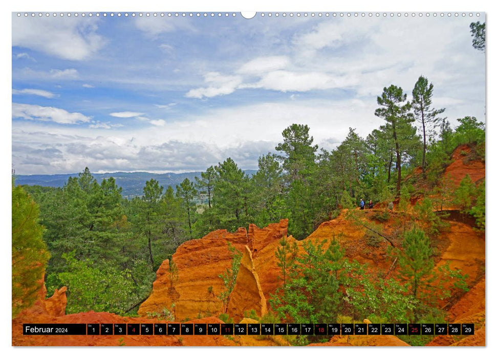
{"type": "Polygon", "coordinates": [[[97,19],[17,17],[12,14],[12,46],[28,48],[66,60],[86,60],[105,44],[97,34],[97,19]]]}

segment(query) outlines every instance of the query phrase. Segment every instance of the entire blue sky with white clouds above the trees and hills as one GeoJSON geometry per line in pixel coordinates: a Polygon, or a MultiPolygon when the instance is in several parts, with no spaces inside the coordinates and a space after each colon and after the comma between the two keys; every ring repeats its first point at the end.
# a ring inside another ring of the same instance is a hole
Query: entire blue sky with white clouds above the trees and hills
{"type": "MultiPolygon", "coordinates": [[[[449,121],[485,115],[476,17],[12,17],[17,174],[204,170],[257,158],[292,123],[333,149],[384,86],[422,74],[449,121]]],[[[484,21],[483,16],[478,18],[484,21]]]]}

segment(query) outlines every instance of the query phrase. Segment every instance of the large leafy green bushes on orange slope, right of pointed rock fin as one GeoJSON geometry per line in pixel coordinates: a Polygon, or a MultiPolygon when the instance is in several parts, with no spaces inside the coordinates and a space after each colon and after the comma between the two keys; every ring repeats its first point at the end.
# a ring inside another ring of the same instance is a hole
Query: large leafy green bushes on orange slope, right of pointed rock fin
{"type": "Polygon", "coordinates": [[[339,322],[346,314],[354,320],[377,315],[389,322],[407,321],[415,305],[405,285],[371,277],[368,267],[344,259],[336,239],[325,247],[326,240],[305,242],[286,289],[277,289],[269,300],[279,320],[339,322]]]}

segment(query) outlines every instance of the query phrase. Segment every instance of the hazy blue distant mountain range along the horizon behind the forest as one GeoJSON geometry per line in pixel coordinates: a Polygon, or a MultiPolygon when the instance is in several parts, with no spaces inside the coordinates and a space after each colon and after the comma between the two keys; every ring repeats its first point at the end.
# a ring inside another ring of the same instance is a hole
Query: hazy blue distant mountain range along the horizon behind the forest
{"type": "MultiPolygon", "coordinates": [[[[244,170],[246,174],[252,176],[256,170],[248,169],[244,170]]],[[[200,177],[200,171],[194,171],[189,173],[164,173],[155,174],[145,171],[137,171],[132,173],[126,172],[115,172],[115,173],[92,173],[98,183],[101,183],[103,179],[113,177],[116,180],[116,184],[122,187],[122,196],[130,198],[133,196],[143,195],[143,187],[145,182],[154,178],[159,182],[160,185],[166,189],[171,186],[176,190],[176,185],[180,184],[185,178],[190,181],[195,181],[195,177],[200,177]]],[[[78,176],[78,173],[72,174],[34,174],[34,175],[15,175],[15,183],[18,185],[40,185],[43,187],[63,187],[67,183],[70,176],[78,176]]]]}

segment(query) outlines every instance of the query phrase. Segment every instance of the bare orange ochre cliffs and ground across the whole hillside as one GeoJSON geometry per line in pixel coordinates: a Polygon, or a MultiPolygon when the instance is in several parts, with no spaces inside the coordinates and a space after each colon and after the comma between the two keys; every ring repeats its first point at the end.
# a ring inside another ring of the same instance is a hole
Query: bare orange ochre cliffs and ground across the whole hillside
{"type": "MultiPolygon", "coordinates": [[[[449,175],[460,182],[469,173],[473,182],[485,177],[485,164],[465,160],[464,146],[456,149],[452,163],[446,168],[449,175]]],[[[415,198],[416,200],[422,198],[415,198]]],[[[413,200],[412,200],[413,202],[413,200]]],[[[414,204],[413,203],[413,204],[414,204]]],[[[389,211],[387,220],[378,221],[379,213],[386,209],[378,205],[375,209],[358,211],[365,222],[381,223],[385,235],[395,237],[395,222],[398,215],[389,211]]],[[[447,311],[447,319],[454,323],[474,323],[475,334],[469,336],[438,336],[428,345],[447,346],[485,345],[485,233],[473,228],[471,222],[459,220],[458,216],[444,219],[448,229],[443,231],[435,242],[437,266],[449,262],[452,269],[460,269],[467,274],[469,292],[455,297],[452,301],[440,302],[447,311]]],[[[280,269],[277,266],[275,251],[279,240],[287,235],[288,220],[280,220],[260,229],[250,225],[248,230],[240,228],[234,233],[226,230],[213,231],[201,239],[187,241],[172,255],[176,269],[165,260],[156,274],[150,296],[141,304],[140,317],[120,317],[107,312],[82,312],[65,315],[67,303],[66,287],[57,290],[45,299],[46,289],[40,290],[38,301],[29,309],[21,312],[12,320],[12,345],[22,346],[279,346],[288,345],[283,336],[200,336],[200,335],[23,335],[23,323],[157,323],[153,314],[163,315],[166,311],[174,315],[176,322],[222,323],[218,318],[226,313],[235,323],[255,323],[247,318],[255,312],[257,317],[268,311],[268,299],[282,285],[280,269]],[[242,253],[236,283],[229,296],[226,307],[218,298],[225,289],[220,278],[231,266],[230,243],[242,253]]],[[[392,260],[388,259],[390,245],[381,240],[374,246],[365,239],[365,228],[354,224],[346,210],[333,220],[321,223],[306,239],[297,241],[291,235],[290,243],[297,242],[299,252],[303,252],[306,240],[328,242],[335,237],[345,250],[345,256],[360,263],[368,263],[369,270],[391,269],[392,260]]],[[[394,244],[400,242],[394,242],[394,244]]],[[[392,270],[395,272],[396,267],[392,270]]],[[[392,275],[391,273],[391,275],[392,275]]],[[[160,321],[166,323],[167,321],[160,321]]],[[[364,320],[364,322],[369,322],[364,320]]],[[[327,343],[313,345],[326,346],[405,346],[407,343],[395,336],[334,336],[327,343]]]]}

